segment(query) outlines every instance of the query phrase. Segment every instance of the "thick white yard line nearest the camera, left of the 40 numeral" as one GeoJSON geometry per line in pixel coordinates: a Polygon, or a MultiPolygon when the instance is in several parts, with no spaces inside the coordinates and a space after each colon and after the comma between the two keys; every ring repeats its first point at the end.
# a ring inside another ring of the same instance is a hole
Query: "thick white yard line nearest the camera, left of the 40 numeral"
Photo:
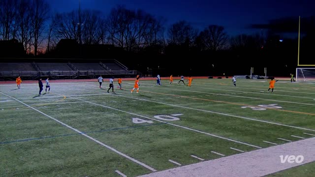
{"type": "MultiPolygon", "coordinates": [[[[5,96],[9,96],[9,95],[4,94],[4,93],[2,93],[2,92],[0,92],[0,93],[3,94],[3,95],[5,95],[5,96]]],[[[83,132],[81,132],[81,131],[79,131],[79,130],[77,130],[77,129],[75,129],[75,128],[73,128],[73,127],[71,127],[71,126],[69,126],[69,125],[67,125],[67,124],[65,124],[65,123],[63,123],[62,121],[60,121],[60,120],[58,120],[58,119],[56,119],[56,118],[53,118],[53,117],[51,117],[51,116],[48,116],[47,114],[45,114],[45,113],[43,113],[43,112],[41,112],[41,111],[39,111],[39,110],[33,108],[32,106],[30,106],[30,105],[28,105],[28,104],[26,104],[26,103],[24,103],[24,102],[22,102],[22,101],[20,101],[20,100],[18,100],[18,99],[16,99],[16,98],[12,97],[12,96],[9,96],[9,97],[12,98],[12,99],[14,99],[14,100],[16,100],[16,101],[18,101],[18,102],[20,102],[20,103],[22,103],[22,104],[24,104],[24,105],[27,106],[27,107],[33,109],[34,111],[37,111],[38,113],[40,113],[40,114],[42,114],[42,115],[44,115],[44,116],[46,116],[46,117],[48,117],[48,118],[51,118],[51,119],[57,121],[58,123],[62,124],[63,126],[66,126],[66,127],[68,127],[69,129],[71,129],[71,130],[73,130],[73,131],[75,131],[75,132],[77,132],[77,133],[79,133],[79,134],[81,134],[81,135],[83,135],[83,136],[89,138],[90,140],[92,140],[92,141],[98,143],[99,145],[102,145],[103,147],[108,148],[108,149],[110,149],[110,150],[112,150],[112,151],[118,153],[119,155],[124,156],[124,157],[126,157],[127,159],[129,159],[129,160],[131,160],[131,161],[133,161],[133,162],[135,162],[135,163],[137,163],[137,164],[139,164],[139,165],[141,165],[141,166],[143,166],[143,167],[145,167],[145,168],[147,168],[147,169],[149,169],[149,170],[151,170],[151,171],[153,171],[153,172],[156,172],[156,171],[157,171],[157,170],[155,170],[154,168],[152,168],[152,167],[150,167],[150,166],[148,166],[148,165],[146,165],[146,164],[144,164],[144,163],[142,163],[142,162],[140,162],[140,161],[138,161],[138,160],[136,160],[136,159],[134,159],[134,158],[132,158],[132,157],[130,157],[130,156],[128,156],[128,155],[126,155],[126,154],[124,154],[124,153],[122,153],[122,152],[120,152],[120,151],[118,151],[118,150],[116,150],[116,149],[114,149],[114,148],[112,148],[112,147],[110,147],[110,146],[108,146],[108,145],[105,145],[104,143],[102,143],[102,142],[96,140],[95,138],[92,138],[92,137],[90,137],[89,135],[84,134],[83,132]]]]}

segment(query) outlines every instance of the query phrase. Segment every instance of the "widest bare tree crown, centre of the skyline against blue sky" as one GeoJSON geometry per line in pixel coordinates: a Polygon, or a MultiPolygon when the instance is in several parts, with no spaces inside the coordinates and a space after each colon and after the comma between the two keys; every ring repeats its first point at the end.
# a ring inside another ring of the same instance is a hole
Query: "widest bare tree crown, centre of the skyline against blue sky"
{"type": "Polygon", "coordinates": [[[163,31],[162,23],[162,19],[143,10],[117,6],[111,10],[105,23],[108,43],[127,51],[139,51],[158,42],[163,31]]]}

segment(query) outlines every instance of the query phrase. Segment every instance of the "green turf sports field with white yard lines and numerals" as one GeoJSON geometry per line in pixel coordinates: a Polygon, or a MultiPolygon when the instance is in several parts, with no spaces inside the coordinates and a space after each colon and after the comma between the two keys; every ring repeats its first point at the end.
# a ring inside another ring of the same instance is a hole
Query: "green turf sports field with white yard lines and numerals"
{"type": "MultiPolygon", "coordinates": [[[[140,79],[131,94],[133,83],[0,85],[0,176],[135,177],[315,137],[312,83],[140,79]]],[[[314,163],[290,173],[305,168],[315,175],[314,163]]]]}

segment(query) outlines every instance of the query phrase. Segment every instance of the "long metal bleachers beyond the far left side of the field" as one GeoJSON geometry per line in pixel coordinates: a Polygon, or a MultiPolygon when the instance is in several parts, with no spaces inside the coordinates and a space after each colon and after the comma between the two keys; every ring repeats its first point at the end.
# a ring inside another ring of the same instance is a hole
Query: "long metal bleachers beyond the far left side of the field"
{"type": "MultiPolygon", "coordinates": [[[[138,74],[136,70],[128,70],[126,66],[115,59],[94,60],[92,62],[0,62],[0,80],[15,80],[21,76],[24,79],[35,80],[40,77],[52,79],[86,79],[98,75],[132,77],[138,74]]],[[[96,78],[97,78],[96,77],[96,78]]]]}

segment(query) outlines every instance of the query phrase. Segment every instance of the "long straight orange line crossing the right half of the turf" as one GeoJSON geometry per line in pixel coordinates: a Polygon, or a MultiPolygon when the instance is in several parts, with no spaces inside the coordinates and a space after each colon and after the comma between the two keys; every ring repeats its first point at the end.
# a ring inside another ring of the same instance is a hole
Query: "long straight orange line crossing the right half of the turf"
{"type": "MultiPolygon", "coordinates": [[[[233,105],[250,106],[250,107],[255,107],[255,108],[261,108],[259,106],[252,106],[252,105],[246,105],[246,104],[241,104],[241,103],[232,103],[232,102],[218,101],[218,100],[211,100],[211,99],[204,99],[204,98],[194,98],[194,97],[189,97],[189,96],[181,96],[181,95],[174,95],[174,94],[167,94],[167,93],[158,93],[158,92],[153,92],[153,91],[143,91],[143,92],[162,94],[162,95],[169,95],[169,96],[180,96],[182,98],[190,98],[190,99],[197,99],[197,100],[204,100],[204,101],[213,101],[213,102],[219,102],[219,103],[226,103],[226,104],[233,104],[233,105]]],[[[264,107],[264,108],[265,109],[269,109],[269,110],[276,110],[276,111],[283,111],[283,112],[290,112],[290,113],[306,114],[306,115],[315,116],[315,114],[313,114],[313,113],[305,113],[305,112],[290,111],[290,110],[283,110],[283,109],[276,109],[276,108],[267,108],[267,107],[264,107]]]]}

